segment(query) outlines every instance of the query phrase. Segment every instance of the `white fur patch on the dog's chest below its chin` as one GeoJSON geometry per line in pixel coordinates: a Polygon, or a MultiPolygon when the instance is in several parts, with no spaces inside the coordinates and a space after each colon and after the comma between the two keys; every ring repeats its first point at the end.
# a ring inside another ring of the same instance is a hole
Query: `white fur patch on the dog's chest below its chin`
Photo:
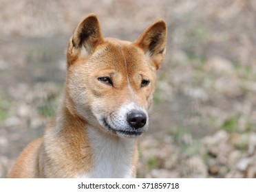
{"type": "Polygon", "coordinates": [[[89,129],[89,142],[92,146],[92,171],[81,178],[130,178],[134,139],[113,139],[89,129]]]}

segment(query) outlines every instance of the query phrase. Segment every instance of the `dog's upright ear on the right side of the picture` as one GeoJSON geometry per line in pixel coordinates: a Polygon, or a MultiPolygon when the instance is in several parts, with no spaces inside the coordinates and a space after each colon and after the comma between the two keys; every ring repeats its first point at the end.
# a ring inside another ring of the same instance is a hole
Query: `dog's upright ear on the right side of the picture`
{"type": "Polygon", "coordinates": [[[156,21],[140,35],[136,45],[153,61],[153,67],[159,68],[164,58],[167,42],[167,25],[163,20],[156,21]]]}

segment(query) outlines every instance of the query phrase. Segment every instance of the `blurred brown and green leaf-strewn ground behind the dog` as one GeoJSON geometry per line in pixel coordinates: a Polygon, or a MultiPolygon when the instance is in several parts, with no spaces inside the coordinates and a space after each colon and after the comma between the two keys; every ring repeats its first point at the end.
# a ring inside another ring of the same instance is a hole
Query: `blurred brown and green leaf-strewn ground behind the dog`
{"type": "Polygon", "coordinates": [[[0,178],[54,115],[68,40],[91,12],[105,37],[168,25],[138,177],[256,177],[256,1],[0,0],[0,10],[0,178]]]}

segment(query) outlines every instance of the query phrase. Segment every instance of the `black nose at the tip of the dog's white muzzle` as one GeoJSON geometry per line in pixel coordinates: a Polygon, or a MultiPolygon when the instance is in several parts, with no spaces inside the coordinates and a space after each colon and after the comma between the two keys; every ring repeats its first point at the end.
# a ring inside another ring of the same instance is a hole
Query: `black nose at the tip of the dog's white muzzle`
{"type": "Polygon", "coordinates": [[[147,115],[142,111],[132,111],[128,113],[127,121],[131,128],[142,128],[147,123],[147,115]]]}

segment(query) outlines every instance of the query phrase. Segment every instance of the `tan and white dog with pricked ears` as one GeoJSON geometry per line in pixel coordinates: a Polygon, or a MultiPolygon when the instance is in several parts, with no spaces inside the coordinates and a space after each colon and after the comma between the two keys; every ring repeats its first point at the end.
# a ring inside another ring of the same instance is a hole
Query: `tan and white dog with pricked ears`
{"type": "Polygon", "coordinates": [[[96,14],[78,23],[67,47],[61,105],[42,138],[29,143],[9,178],[134,178],[137,140],[149,127],[167,25],[138,40],[103,38],[96,14]]]}

